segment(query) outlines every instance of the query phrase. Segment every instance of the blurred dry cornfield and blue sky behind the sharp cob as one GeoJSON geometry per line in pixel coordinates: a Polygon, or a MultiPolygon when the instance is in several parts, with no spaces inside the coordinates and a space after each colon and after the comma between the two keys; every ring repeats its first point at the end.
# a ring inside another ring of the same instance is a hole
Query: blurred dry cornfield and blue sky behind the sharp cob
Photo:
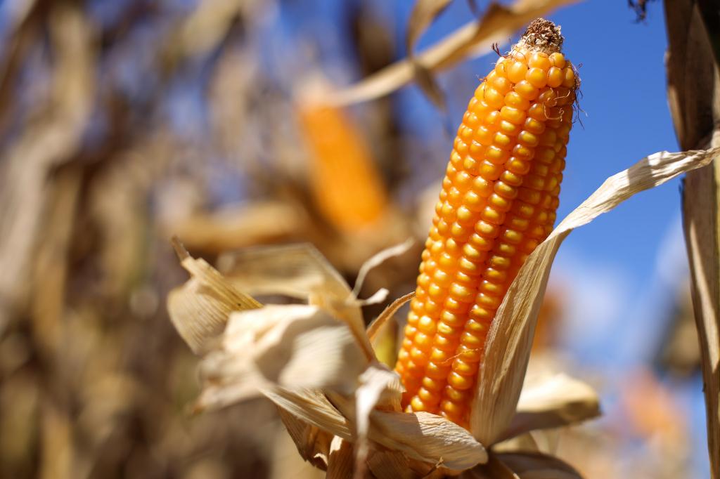
{"type": "MultiPolygon", "coordinates": [[[[559,217],[649,153],[716,146],[711,2],[423,3],[0,2],[0,477],[322,477],[269,401],[192,414],[170,238],[238,278],[226,253],[310,242],[351,284],[413,238],[360,296],[413,291],[465,102],[529,19],[561,24],[584,64],[559,217]]],[[[688,175],[686,224],[716,214],[708,168],[688,175]]],[[[603,419],[553,439],[588,478],[710,475],[673,184],[569,239],[541,311],[537,361],[603,398],[603,419]]],[[[392,364],[394,330],[378,351],[392,364]]]]}

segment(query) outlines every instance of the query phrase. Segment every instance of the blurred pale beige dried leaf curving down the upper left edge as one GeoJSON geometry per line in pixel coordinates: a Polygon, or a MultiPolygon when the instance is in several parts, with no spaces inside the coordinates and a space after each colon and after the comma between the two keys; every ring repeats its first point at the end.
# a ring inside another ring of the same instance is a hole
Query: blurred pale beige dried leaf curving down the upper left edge
{"type": "Polygon", "coordinates": [[[0,155],[0,334],[28,293],[50,172],[74,158],[93,111],[94,28],[79,4],[55,4],[48,11],[43,42],[52,58],[49,98],[33,99],[42,107],[30,109],[32,121],[9,135],[0,155]]]}

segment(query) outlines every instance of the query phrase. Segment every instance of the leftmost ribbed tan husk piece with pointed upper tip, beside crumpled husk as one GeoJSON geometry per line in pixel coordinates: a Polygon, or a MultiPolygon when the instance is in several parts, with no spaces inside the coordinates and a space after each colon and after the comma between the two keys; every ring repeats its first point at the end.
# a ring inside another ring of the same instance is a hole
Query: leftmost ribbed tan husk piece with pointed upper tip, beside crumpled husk
{"type": "Polygon", "coordinates": [[[205,260],[188,255],[179,242],[176,248],[191,278],[168,294],[168,313],[192,352],[201,354],[225,329],[231,311],[255,309],[261,304],[235,289],[205,260]]]}

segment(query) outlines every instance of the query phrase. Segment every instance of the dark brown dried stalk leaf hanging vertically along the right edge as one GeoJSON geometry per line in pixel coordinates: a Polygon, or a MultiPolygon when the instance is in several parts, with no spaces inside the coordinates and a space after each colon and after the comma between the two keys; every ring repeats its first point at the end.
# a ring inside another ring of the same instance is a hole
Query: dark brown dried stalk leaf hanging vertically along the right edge
{"type": "MultiPolygon", "coordinates": [[[[720,146],[720,24],[713,2],[666,1],[667,101],[683,148],[720,146]]],[[[683,227],[705,393],[711,477],[720,478],[720,165],[688,173],[683,227]]]]}

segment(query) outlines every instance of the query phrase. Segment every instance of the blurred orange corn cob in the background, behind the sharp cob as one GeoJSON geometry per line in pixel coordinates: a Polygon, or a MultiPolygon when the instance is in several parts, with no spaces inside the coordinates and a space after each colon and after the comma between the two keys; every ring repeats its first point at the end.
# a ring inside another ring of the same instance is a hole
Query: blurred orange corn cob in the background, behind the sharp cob
{"type": "Polygon", "coordinates": [[[351,234],[377,222],[387,195],[368,145],[343,109],[300,105],[311,158],[311,188],[320,213],[351,234]]]}

